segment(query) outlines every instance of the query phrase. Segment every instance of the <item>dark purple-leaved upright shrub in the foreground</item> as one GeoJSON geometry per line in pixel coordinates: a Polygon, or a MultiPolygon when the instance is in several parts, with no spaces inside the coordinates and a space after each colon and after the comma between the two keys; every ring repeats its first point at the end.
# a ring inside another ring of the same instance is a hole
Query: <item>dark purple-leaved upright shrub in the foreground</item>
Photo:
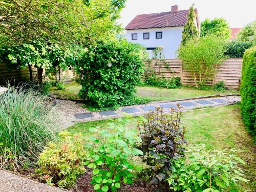
{"type": "Polygon", "coordinates": [[[174,160],[183,156],[185,148],[185,127],[181,127],[181,112],[171,110],[164,115],[162,109],[148,113],[143,122],[138,123],[142,144],[138,149],[143,151],[142,161],[149,165],[144,173],[151,183],[162,191],[168,191],[166,181],[172,175],[174,160]]]}

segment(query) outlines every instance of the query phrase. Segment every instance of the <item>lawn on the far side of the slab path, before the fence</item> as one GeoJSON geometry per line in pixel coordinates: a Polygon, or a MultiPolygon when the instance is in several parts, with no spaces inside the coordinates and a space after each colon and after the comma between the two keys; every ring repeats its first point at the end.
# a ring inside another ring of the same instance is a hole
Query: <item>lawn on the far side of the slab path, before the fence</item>
{"type": "MultiPolygon", "coordinates": [[[[65,84],[65,90],[57,90],[55,87],[50,89],[51,93],[56,96],[65,97],[69,99],[78,99],[77,95],[81,89],[81,85],[77,82],[72,82],[65,84]]],[[[155,88],[155,87],[137,87],[137,96],[144,97],[152,100],[174,100],[174,99],[184,99],[199,96],[209,96],[216,94],[229,94],[238,93],[238,91],[225,90],[225,91],[215,91],[215,90],[197,90],[195,88],[180,88],[180,89],[165,89],[165,88],[155,88]]]]}

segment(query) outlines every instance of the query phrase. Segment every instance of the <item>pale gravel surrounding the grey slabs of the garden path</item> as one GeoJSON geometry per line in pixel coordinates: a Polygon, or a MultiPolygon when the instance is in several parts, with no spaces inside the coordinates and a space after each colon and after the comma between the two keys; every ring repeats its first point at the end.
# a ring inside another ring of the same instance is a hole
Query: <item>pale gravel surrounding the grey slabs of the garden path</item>
{"type": "MultiPolygon", "coordinates": [[[[70,101],[70,100],[59,100],[57,99],[57,105],[56,109],[59,113],[59,122],[61,124],[62,129],[66,129],[67,127],[73,125],[75,122],[86,122],[86,121],[95,121],[95,120],[102,120],[102,119],[110,119],[110,118],[119,118],[124,116],[123,109],[127,108],[135,108],[137,110],[136,113],[131,113],[131,116],[140,116],[148,113],[148,111],[144,110],[144,106],[155,106],[155,107],[161,107],[162,104],[177,104],[177,103],[184,103],[189,102],[190,104],[193,103],[192,106],[183,106],[182,111],[187,110],[193,110],[195,108],[206,108],[206,107],[213,107],[213,106],[219,106],[219,105],[227,105],[232,104],[236,102],[240,102],[241,97],[237,95],[232,96],[219,96],[219,97],[211,97],[211,98],[193,98],[193,99],[187,99],[187,100],[177,100],[177,101],[155,101],[147,104],[142,105],[133,105],[133,106],[123,106],[122,108],[119,108],[118,110],[111,111],[113,113],[116,113],[114,115],[108,115],[103,116],[100,115],[99,112],[90,112],[86,108],[82,108],[82,103],[76,102],[76,101],[70,101]],[[215,99],[221,99],[225,100],[225,102],[217,102],[214,101],[215,99]],[[196,101],[209,101],[210,104],[201,104],[196,101]],[[78,114],[90,114],[91,117],[88,118],[81,118],[76,119],[75,115],[78,114]]],[[[168,112],[169,109],[163,108],[165,112],[168,112]]]]}

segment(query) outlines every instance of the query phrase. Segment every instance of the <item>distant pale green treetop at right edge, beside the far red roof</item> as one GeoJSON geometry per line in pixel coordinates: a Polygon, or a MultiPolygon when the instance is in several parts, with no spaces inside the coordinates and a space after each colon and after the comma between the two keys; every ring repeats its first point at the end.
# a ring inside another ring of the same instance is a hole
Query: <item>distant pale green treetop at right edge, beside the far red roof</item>
{"type": "Polygon", "coordinates": [[[256,20],[241,29],[237,37],[241,41],[250,41],[253,45],[256,45],[256,20]]]}

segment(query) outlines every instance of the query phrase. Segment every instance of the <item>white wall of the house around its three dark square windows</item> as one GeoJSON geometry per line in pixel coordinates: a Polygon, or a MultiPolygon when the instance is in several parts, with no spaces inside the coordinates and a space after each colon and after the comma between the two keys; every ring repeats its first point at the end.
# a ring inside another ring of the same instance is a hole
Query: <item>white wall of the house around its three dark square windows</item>
{"type": "Polygon", "coordinates": [[[126,38],[130,42],[141,44],[146,48],[163,46],[164,58],[176,58],[176,50],[180,46],[182,31],[184,27],[152,28],[127,30],[126,38]],[[156,32],[162,32],[162,38],[156,38],[156,32]],[[132,33],[137,33],[137,40],[132,40],[132,33]],[[143,39],[143,33],[150,33],[150,39],[143,39]]]}

